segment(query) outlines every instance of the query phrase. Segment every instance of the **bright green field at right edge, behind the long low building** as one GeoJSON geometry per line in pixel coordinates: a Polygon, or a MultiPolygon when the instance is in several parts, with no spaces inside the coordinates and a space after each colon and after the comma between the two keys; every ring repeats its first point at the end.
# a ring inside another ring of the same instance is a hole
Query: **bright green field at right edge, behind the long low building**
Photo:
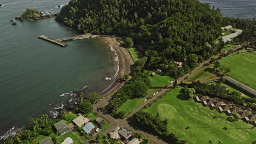
{"type": "Polygon", "coordinates": [[[230,68],[228,75],[244,85],[256,90],[256,53],[245,52],[237,54],[232,53],[230,56],[223,57],[219,60],[221,65],[230,68]],[[255,73],[254,73],[255,72],[255,73]],[[254,73],[254,76],[253,76],[254,73]],[[253,77],[252,83],[250,81],[253,77]]]}

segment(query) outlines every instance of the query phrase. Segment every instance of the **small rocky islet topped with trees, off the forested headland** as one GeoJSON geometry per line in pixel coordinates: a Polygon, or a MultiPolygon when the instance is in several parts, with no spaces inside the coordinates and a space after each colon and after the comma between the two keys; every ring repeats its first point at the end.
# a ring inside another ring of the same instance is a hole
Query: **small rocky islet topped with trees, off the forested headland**
{"type": "Polygon", "coordinates": [[[37,9],[30,9],[27,8],[26,11],[19,17],[15,17],[16,20],[39,20],[39,19],[47,19],[50,17],[56,17],[57,14],[48,14],[48,15],[43,15],[40,13],[37,9]]]}

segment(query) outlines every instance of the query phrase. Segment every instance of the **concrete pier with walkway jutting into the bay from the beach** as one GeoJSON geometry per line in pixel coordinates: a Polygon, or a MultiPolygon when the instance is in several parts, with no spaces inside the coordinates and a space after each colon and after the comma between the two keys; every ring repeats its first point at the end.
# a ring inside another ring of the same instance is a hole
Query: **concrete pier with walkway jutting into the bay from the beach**
{"type": "Polygon", "coordinates": [[[63,38],[63,39],[53,39],[50,37],[46,37],[45,35],[39,35],[38,38],[44,39],[46,41],[50,41],[51,43],[60,45],[60,46],[67,46],[66,43],[63,43],[62,41],[68,41],[68,40],[77,40],[77,39],[90,39],[90,38],[97,38],[100,37],[99,35],[91,35],[91,34],[83,34],[83,35],[77,35],[74,37],[69,37],[69,38],[63,38]]]}

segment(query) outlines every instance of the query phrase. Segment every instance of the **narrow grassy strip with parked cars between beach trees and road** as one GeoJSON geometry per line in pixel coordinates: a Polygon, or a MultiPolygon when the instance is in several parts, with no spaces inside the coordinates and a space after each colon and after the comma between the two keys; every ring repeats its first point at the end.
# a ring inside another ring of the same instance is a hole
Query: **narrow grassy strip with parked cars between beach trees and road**
{"type": "Polygon", "coordinates": [[[141,105],[144,99],[148,97],[153,97],[152,94],[159,91],[161,87],[167,86],[170,81],[174,80],[170,76],[167,75],[158,75],[155,74],[154,76],[149,77],[152,85],[150,89],[148,89],[146,97],[144,98],[136,98],[136,99],[129,99],[127,100],[122,106],[119,107],[118,111],[126,111],[126,115],[129,115],[133,110],[137,109],[139,105],[141,105]]]}

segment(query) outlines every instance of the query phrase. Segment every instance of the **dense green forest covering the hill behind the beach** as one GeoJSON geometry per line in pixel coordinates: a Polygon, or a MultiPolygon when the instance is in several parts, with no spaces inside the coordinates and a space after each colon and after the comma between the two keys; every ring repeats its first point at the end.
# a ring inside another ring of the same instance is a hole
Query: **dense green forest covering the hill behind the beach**
{"type": "Polygon", "coordinates": [[[219,9],[197,0],[72,0],[56,20],[82,33],[131,37],[146,50],[149,68],[170,69],[173,61],[188,61],[187,71],[219,51],[206,42],[220,37],[222,19],[219,9]]]}

